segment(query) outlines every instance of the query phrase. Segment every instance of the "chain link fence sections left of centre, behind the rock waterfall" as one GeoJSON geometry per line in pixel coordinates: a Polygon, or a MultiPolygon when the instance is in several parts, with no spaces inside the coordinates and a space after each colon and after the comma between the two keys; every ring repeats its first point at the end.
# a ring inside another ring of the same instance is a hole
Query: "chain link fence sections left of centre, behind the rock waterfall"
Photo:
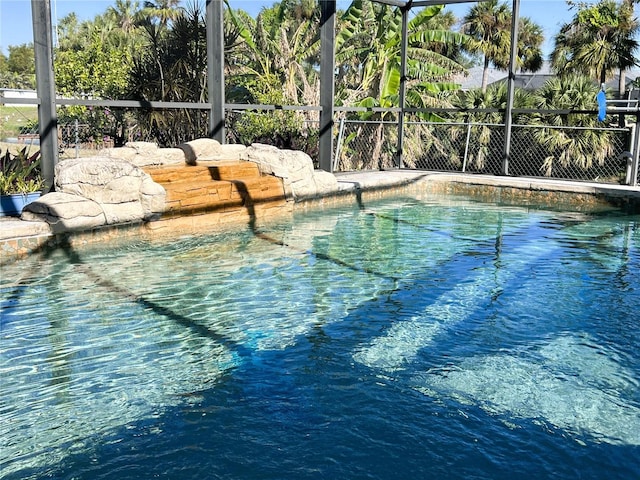
{"type": "MultiPolygon", "coordinates": [[[[13,148],[37,146],[37,106],[9,104],[1,105],[1,108],[0,142],[13,148]]],[[[319,111],[304,108],[228,110],[226,141],[245,145],[267,143],[302,150],[317,162],[319,111]]],[[[127,142],[175,147],[209,136],[209,112],[198,108],[71,106],[58,108],[57,115],[60,158],[94,155],[103,148],[122,146],[127,142]]]]}

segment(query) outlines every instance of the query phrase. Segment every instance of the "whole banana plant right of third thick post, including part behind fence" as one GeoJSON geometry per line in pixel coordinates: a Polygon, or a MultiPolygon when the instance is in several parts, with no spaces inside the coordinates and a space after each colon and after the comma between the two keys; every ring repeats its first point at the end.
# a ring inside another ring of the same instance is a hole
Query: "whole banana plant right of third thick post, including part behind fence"
{"type": "MultiPolygon", "coordinates": [[[[451,57],[459,58],[467,39],[450,30],[452,19],[440,18],[441,12],[442,6],[427,7],[408,21],[406,107],[451,107],[449,98],[459,88],[454,76],[464,68],[451,57]]],[[[346,137],[343,152],[348,153],[352,167],[385,168],[395,161],[396,132],[384,123],[390,113],[374,109],[400,106],[401,43],[398,8],[355,0],[341,16],[336,36],[336,103],[364,107],[367,110],[358,118],[377,122],[373,128],[361,127],[346,137]],[[356,139],[358,146],[352,148],[350,143],[356,139]]],[[[440,119],[426,112],[417,117],[440,119]]],[[[407,140],[408,147],[415,144],[407,140]]]]}

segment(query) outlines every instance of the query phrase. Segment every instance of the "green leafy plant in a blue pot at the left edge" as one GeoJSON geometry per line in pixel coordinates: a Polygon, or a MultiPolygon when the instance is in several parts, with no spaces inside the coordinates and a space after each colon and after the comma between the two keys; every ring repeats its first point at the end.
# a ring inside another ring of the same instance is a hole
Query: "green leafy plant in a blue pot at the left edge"
{"type": "Polygon", "coordinates": [[[16,154],[0,152],[0,216],[20,215],[43,188],[39,150],[31,155],[27,147],[16,154]]]}

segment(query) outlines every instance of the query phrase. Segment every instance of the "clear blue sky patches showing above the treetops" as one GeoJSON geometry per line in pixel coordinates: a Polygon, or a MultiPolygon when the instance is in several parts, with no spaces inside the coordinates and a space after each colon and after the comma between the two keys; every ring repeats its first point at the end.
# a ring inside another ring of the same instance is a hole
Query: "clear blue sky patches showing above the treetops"
{"type": "MultiPolygon", "coordinates": [[[[40,0],[36,0],[40,1],[40,0]]],[[[192,1],[192,0],[187,0],[192,1]]],[[[200,0],[204,3],[204,0],[200,0]]],[[[104,13],[115,0],[50,0],[52,17],[61,19],[75,12],[80,21],[92,20],[96,15],[104,13]]],[[[506,0],[511,6],[511,0],[506,0]]],[[[142,2],[140,2],[142,3],[142,2]]],[[[232,8],[240,8],[255,15],[264,6],[270,6],[273,0],[230,0],[232,8]]],[[[346,8],[347,0],[338,0],[338,8],[346,8]]],[[[452,4],[447,8],[462,18],[473,6],[473,3],[452,4]]],[[[529,17],[543,28],[545,43],[543,52],[548,55],[553,49],[553,37],[560,27],[569,22],[573,12],[569,10],[565,0],[521,0],[520,16],[529,17]]],[[[55,21],[52,19],[55,25],[55,21]]],[[[8,55],[10,45],[21,45],[33,42],[31,28],[31,0],[0,0],[0,50],[8,55]]]]}

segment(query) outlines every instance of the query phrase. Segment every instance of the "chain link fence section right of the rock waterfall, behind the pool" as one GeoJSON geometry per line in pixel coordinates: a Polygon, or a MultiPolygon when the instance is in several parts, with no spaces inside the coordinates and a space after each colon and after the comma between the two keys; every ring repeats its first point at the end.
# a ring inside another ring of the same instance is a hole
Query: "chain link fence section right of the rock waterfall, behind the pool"
{"type": "MultiPolygon", "coordinates": [[[[403,167],[500,175],[504,167],[502,124],[408,122],[403,167]]],[[[514,125],[508,174],[600,183],[627,183],[629,128],[514,125]]],[[[340,122],[335,171],[397,166],[396,122],[340,122]]]]}

